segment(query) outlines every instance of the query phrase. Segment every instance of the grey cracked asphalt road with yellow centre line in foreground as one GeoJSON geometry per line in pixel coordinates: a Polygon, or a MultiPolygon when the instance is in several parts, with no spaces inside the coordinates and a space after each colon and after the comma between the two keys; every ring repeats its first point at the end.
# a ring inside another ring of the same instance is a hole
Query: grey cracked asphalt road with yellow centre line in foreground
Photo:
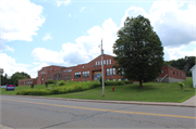
{"type": "Polygon", "coordinates": [[[196,128],[194,107],[2,96],[1,125],[12,128],[196,128]]]}

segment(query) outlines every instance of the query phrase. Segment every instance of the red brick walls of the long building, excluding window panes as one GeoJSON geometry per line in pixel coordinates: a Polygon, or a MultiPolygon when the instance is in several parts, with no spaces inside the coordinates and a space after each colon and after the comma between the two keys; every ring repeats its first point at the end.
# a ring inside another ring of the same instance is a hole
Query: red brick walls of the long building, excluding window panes
{"type": "MultiPolygon", "coordinates": [[[[113,56],[111,55],[103,55],[103,75],[105,75],[105,79],[120,79],[122,78],[122,76],[119,76],[117,74],[117,69],[115,69],[115,75],[112,76],[107,76],[107,68],[112,68],[112,66],[114,65],[115,61],[113,60],[113,56]],[[111,64],[110,64],[110,60],[111,60],[111,64]],[[108,64],[107,64],[108,61],[108,64]]],[[[94,80],[94,73],[96,72],[101,72],[101,55],[97,56],[96,59],[94,59],[93,61],[90,61],[89,63],[86,64],[78,64],[76,66],[72,66],[72,67],[61,67],[61,66],[48,66],[48,67],[42,67],[39,72],[38,72],[38,78],[37,78],[37,83],[41,85],[41,78],[44,78],[42,80],[42,85],[47,81],[47,79],[54,79],[54,75],[60,74],[61,75],[61,80],[73,80],[73,81],[85,81],[85,80],[94,80]],[[97,62],[97,65],[96,65],[97,62]],[[99,64],[99,65],[98,65],[99,64]],[[69,69],[72,69],[71,73],[68,73],[69,69]],[[41,72],[46,72],[45,75],[41,75],[41,72]],[[81,72],[81,78],[74,78],[75,73],[81,72]],[[87,78],[83,78],[83,72],[89,72],[89,77],[87,78]],[[66,79],[64,77],[68,77],[71,75],[71,78],[66,79]]],[[[174,67],[171,66],[163,66],[162,67],[162,73],[159,75],[159,78],[164,77],[164,75],[167,75],[169,77],[173,77],[173,78],[179,78],[179,79],[185,79],[185,73],[176,69],[174,67]],[[172,72],[172,73],[171,73],[172,72]],[[173,75],[173,72],[175,73],[175,75],[173,75]]]]}

